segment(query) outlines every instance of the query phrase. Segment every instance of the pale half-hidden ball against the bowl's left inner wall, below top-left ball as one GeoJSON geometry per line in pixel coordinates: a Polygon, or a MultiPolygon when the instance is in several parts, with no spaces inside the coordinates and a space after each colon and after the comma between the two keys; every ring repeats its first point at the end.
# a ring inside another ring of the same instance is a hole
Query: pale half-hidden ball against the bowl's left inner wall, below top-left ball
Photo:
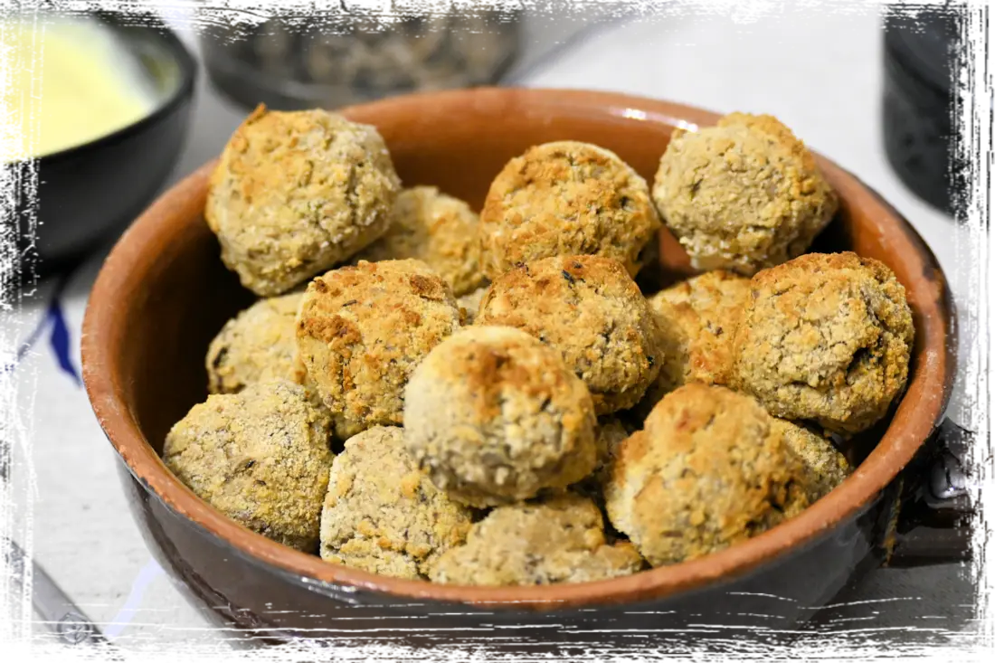
{"type": "Polygon", "coordinates": [[[225,324],[207,350],[211,393],[238,393],[275,379],[299,381],[294,330],[302,297],[260,300],[225,324]]]}

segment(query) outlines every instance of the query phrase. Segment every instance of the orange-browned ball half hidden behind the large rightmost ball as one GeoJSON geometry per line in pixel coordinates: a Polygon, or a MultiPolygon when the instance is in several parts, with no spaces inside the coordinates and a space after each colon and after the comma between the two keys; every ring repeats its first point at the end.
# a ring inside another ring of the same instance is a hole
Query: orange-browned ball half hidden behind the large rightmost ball
{"type": "Polygon", "coordinates": [[[708,272],[650,298],[663,338],[663,365],[652,387],[656,403],[689,382],[725,384],[732,339],[749,297],[749,279],[708,272]]]}

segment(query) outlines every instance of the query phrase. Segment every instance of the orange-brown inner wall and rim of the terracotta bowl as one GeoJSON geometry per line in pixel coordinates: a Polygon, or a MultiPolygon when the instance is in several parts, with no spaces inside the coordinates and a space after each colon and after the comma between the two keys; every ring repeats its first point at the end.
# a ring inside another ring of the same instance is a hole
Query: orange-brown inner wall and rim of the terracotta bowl
{"type": "MultiPolygon", "coordinates": [[[[491,180],[530,145],[560,139],[617,152],[652,181],[676,126],[717,115],[612,94],[475,90],[397,98],[346,110],[376,125],[406,185],[434,184],[480,209],[491,180]]],[[[222,266],[202,211],[212,164],[165,193],[121,238],[90,300],[83,351],[100,425],[133,476],[166,505],[236,551],[307,579],[374,593],[532,609],[661,597],[741,574],[831,529],[895,479],[940,419],[953,383],[955,328],[935,259],[896,212],[854,176],[820,158],[842,209],[817,250],[854,250],[891,267],[917,331],[907,392],[880,443],[842,486],[802,515],[723,552],[632,576],[584,584],[490,588],[374,575],[322,561],[254,534],[194,496],[159,458],[169,427],[206,396],[203,357],[223,323],[252,301],[222,266]]],[[[661,262],[687,273],[667,236],[661,262]]],[[[431,603],[427,604],[431,605],[431,603]]]]}

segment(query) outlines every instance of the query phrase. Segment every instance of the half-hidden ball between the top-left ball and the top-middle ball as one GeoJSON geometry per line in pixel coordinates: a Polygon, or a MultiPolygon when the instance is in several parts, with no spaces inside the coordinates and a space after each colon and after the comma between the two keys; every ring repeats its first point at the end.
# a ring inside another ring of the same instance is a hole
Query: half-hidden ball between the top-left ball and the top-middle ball
{"type": "Polygon", "coordinates": [[[462,297],[485,281],[478,223],[470,205],[434,186],[405,189],[397,197],[387,234],[366,247],[359,259],[421,260],[462,297]]]}

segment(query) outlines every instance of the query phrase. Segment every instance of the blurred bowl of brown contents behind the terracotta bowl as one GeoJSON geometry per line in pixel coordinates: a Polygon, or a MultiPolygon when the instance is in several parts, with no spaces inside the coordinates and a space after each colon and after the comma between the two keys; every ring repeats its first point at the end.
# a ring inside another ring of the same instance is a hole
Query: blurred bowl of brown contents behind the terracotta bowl
{"type": "Polygon", "coordinates": [[[199,0],[214,84],[245,106],[335,108],[495,83],[518,0],[199,0]]]}

